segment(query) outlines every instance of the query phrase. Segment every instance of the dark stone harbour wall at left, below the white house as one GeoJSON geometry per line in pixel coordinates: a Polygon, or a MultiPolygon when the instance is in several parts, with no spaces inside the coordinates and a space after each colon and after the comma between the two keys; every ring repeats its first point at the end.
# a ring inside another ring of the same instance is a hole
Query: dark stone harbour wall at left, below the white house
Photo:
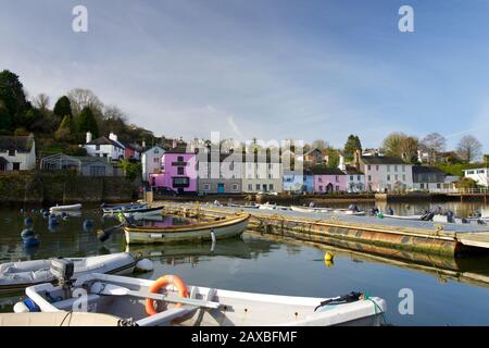
{"type": "Polygon", "coordinates": [[[9,172],[0,174],[2,204],[43,204],[130,201],[137,183],[116,176],[78,176],[72,173],[9,172]]]}

